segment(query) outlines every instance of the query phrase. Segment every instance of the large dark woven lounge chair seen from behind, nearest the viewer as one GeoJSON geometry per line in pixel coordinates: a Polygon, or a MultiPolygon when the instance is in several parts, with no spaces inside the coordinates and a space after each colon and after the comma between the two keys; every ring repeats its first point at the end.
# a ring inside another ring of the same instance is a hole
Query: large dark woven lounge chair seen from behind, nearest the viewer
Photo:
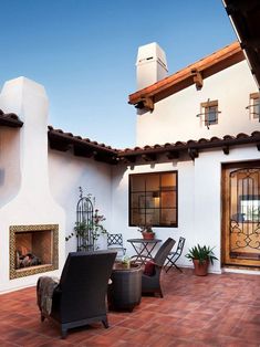
{"type": "Polygon", "coordinates": [[[51,312],[40,307],[41,320],[52,318],[61,326],[64,338],[67,329],[102,322],[108,327],[106,292],[116,257],[113,251],[74,252],[67,255],[59,285],[53,291],[51,312]]]}

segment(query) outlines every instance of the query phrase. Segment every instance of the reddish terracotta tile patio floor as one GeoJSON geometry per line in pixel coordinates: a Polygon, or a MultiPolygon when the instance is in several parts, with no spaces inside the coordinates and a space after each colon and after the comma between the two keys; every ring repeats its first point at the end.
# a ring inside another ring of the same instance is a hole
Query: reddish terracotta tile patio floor
{"type": "Polygon", "coordinates": [[[132,313],[110,312],[102,324],[66,339],[40,322],[35,287],[0,295],[0,346],[260,346],[260,276],[163,273],[164,298],[143,297],[132,313]]]}

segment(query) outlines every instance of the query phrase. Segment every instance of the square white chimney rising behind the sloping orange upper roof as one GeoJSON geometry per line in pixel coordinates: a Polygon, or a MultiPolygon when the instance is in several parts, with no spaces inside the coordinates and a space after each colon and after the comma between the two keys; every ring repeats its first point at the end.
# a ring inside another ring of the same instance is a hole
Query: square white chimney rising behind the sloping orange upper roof
{"type": "Polygon", "coordinates": [[[143,90],[167,77],[167,73],[165,52],[156,42],[138,48],[136,60],[137,90],[143,90]]]}

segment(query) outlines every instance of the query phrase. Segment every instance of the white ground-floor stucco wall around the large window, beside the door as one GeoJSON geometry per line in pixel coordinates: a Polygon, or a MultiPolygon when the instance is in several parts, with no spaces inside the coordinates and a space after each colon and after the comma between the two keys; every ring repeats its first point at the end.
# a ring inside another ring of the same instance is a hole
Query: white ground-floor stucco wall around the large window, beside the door
{"type": "MultiPolygon", "coordinates": [[[[127,254],[134,254],[127,239],[139,238],[135,227],[128,227],[128,176],[139,172],[178,171],[178,228],[154,228],[156,236],[163,241],[186,238],[180,266],[193,266],[185,257],[188,249],[197,243],[215,246],[220,260],[221,252],[221,164],[259,160],[257,146],[233,148],[229,155],[222,150],[207,150],[191,160],[113,169],[113,219],[112,229],[124,234],[127,254]]],[[[210,272],[220,273],[221,264],[215,262],[210,272]]]]}

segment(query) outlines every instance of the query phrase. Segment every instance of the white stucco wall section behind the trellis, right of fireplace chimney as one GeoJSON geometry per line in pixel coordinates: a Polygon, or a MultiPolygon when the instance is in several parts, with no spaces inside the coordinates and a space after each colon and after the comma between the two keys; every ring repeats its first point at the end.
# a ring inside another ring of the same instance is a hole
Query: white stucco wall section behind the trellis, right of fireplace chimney
{"type": "MultiPolygon", "coordinates": [[[[111,166],[93,159],[80,158],[72,153],[61,153],[49,149],[49,176],[51,192],[55,201],[65,211],[64,236],[73,232],[76,221],[76,203],[79,201],[79,187],[83,194],[95,197],[95,207],[98,213],[104,214],[104,225],[111,230],[112,191],[111,166]]],[[[102,238],[98,240],[102,246],[102,238]]],[[[76,238],[65,243],[66,254],[76,251],[76,238]]]]}

